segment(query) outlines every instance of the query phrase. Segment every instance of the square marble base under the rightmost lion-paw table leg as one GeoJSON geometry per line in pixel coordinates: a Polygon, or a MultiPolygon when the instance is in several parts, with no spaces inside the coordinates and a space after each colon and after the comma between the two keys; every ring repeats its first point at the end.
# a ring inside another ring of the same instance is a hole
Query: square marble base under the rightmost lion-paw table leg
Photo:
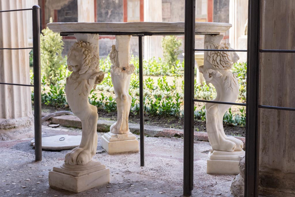
{"type": "Polygon", "coordinates": [[[207,174],[239,174],[240,157],[245,151],[216,151],[211,150],[207,159],[207,174]]]}

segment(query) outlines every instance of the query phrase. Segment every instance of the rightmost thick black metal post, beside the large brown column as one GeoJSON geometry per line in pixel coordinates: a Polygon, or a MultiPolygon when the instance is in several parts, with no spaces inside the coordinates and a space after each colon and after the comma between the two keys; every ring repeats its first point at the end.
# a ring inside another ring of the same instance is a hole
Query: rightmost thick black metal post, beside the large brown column
{"type": "Polygon", "coordinates": [[[245,197],[258,197],[260,0],[249,0],[248,20],[245,197]]]}

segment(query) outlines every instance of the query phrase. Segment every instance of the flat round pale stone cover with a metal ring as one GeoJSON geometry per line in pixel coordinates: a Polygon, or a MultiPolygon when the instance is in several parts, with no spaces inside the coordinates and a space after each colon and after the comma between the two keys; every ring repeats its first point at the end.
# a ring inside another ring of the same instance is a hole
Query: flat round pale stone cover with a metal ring
{"type": "MultiPolygon", "coordinates": [[[[67,150],[80,145],[82,136],[58,135],[42,138],[42,149],[45,150],[67,150]]],[[[31,141],[35,147],[35,139],[31,141]]]]}

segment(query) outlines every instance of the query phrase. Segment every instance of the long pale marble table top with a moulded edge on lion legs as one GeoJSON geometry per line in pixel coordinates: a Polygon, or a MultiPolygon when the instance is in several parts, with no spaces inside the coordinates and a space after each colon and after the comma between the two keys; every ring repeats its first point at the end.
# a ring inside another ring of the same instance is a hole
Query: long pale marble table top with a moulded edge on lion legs
{"type": "MultiPolygon", "coordinates": [[[[73,33],[98,33],[108,35],[143,34],[174,35],[184,34],[184,22],[65,22],[48,23],[47,27],[61,35],[73,33]]],[[[220,34],[232,27],[229,23],[196,22],[196,34],[220,34]]]]}

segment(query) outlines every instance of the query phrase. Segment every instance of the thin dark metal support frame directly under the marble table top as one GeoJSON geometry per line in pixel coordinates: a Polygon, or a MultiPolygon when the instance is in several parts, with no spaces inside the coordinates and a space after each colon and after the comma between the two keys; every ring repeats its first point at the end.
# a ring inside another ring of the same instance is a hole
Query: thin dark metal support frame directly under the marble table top
{"type": "MultiPolygon", "coordinates": [[[[90,34],[99,34],[99,35],[138,35],[143,34],[144,36],[152,35],[184,35],[184,32],[60,32],[61,36],[74,35],[74,33],[90,33],[90,34]]],[[[218,32],[195,32],[195,35],[219,35],[218,32]]]]}

